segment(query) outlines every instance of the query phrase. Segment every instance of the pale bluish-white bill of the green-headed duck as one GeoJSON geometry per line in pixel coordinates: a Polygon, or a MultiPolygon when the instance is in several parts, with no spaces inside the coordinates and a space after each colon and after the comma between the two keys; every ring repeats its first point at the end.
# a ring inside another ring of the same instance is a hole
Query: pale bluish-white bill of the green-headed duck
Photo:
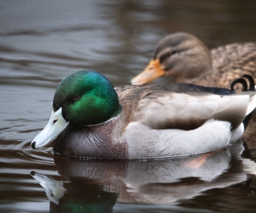
{"type": "Polygon", "coordinates": [[[46,127],[31,142],[32,148],[41,148],[52,142],[68,126],[69,122],[65,121],[62,116],[62,109],[52,111],[46,127]]]}

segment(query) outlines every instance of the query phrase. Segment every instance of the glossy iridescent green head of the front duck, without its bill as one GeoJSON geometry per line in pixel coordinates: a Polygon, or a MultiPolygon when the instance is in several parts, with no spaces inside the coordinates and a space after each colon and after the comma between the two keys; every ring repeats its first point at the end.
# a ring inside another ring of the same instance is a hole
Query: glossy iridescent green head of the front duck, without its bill
{"type": "Polygon", "coordinates": [[[82,70],[60,82],[53,99],[53,111],[62,108],[65,121],[90,125],[117,116],[122,107],[112,84],[100,73],[82,70]]]}

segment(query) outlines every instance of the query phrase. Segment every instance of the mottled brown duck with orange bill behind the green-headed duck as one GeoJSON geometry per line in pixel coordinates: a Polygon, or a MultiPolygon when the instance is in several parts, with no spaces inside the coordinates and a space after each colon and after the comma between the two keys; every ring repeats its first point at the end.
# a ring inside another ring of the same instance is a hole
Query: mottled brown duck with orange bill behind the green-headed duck
{"type": "Polygon", "coordinates": [[[149,65],[131,84],[146,84],[165,75],[173,82],[229,88],[243,74],[256,80],[255,71],[255,43],[233,43],[209,51],[195,36],[174,33],[160,40],[149,65]]]}

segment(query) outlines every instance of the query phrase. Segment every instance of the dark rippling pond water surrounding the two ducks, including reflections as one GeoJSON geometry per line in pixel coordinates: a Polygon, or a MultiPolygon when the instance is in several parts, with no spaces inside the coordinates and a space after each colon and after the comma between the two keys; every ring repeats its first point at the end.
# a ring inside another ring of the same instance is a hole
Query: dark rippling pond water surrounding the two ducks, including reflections
{"type": "Polygon", "coordinates": [[[209,48],[256,42],[255,9],[253,0],[2,0],[0,212],[255,212],[256,150],[242,141],[149,161],[74,160],[53,145],[30,147],[70,73],[91,69],[127,84],[156,43],[177,31],[209,48]]]}

